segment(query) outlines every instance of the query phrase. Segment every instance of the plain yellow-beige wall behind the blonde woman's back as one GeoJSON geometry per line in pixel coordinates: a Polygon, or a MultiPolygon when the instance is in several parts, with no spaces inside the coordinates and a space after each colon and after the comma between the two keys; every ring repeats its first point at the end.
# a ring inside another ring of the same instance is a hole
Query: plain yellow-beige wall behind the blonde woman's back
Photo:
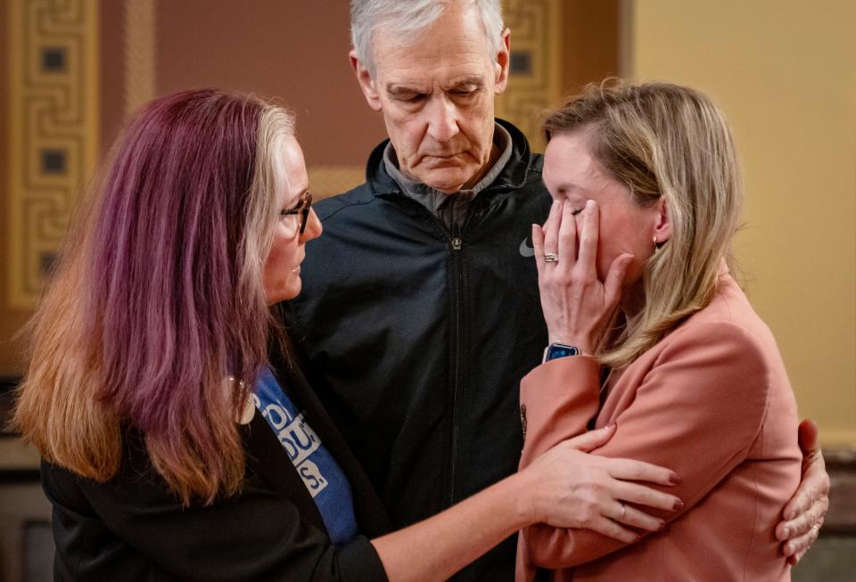
{"type": "Polygon", "coordinates": [[[630,67],[710,94],[743,161],[737,258],[802,416],[856,445],[856,2],[630,2],[630,67]]]}

